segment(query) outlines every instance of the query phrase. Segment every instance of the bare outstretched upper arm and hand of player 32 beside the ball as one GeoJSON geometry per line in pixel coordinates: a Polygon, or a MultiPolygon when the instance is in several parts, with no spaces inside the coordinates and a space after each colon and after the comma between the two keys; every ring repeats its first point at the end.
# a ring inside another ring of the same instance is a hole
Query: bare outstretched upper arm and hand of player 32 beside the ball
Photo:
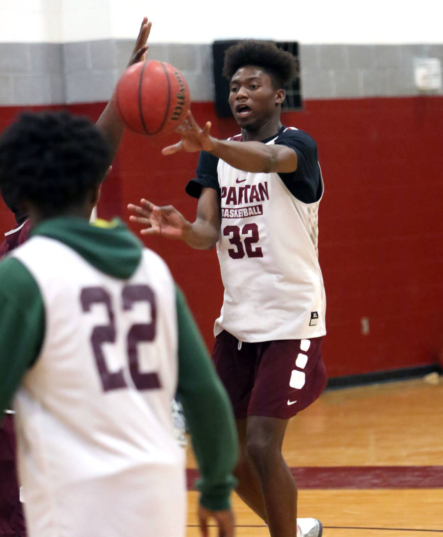
{"type": "Polygon", "coordinates": [[[162,153],[172,155],[178,151],[208,151],[238,170],[253,173],[290,173],[297,170],[297,153],[289,147],[218,140],[209,134],[210,128],[210,121],[203,129],[200,128],[189,111],[186,120],[177,129],[182,139],[173,146],[165,147],[162,153]]]}

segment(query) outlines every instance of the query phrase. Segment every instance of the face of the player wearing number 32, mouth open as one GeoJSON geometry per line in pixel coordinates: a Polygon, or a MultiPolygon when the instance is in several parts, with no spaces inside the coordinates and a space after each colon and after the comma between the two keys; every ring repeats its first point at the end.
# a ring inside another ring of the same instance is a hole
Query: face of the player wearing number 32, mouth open
{"type": "Polygon", "coordinates": [[[241,67],[231,78],[229,104],[242,128],[258,129],[279,117],[283,99],[284,91],[272,88],[271,77],[259,67],[241,67]]]}

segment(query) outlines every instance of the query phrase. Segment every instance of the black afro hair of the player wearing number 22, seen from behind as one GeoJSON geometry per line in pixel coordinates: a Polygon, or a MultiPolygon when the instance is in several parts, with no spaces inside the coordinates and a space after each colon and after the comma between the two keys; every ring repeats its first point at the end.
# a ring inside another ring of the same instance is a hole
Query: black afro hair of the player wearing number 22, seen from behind
{"type": "Polygon", "coordinates": [[[109,164],[109,147],[97,127],[68,112],[21,114],[0,136],[0,189],[13,212],[21,201],[46,217],[81,205],[109,164]]]}

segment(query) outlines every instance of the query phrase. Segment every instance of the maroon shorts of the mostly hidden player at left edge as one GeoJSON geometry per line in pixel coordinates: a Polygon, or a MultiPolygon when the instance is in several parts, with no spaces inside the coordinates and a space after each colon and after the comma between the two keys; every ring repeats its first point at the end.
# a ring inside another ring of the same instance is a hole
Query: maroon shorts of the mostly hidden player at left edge
{"type": "Polygon", "coordinates": [[[25,518],[16,477],[16,437],[13,417],[0,425],[0,537],[25,537],[25,518]]]}

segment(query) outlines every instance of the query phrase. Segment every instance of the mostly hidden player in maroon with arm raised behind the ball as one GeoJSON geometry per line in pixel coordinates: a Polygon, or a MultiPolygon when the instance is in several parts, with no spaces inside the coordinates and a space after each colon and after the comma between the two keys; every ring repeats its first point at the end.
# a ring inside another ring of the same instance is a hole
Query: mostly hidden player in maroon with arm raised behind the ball
{"type": "MultiPolygon", "coordinates": [[[[128,67],[146,58],[147,49],[149,48],[146,42],[151,31],[151,25],[152,23],[148,22],[145,17],[142,21],[134,49],[131,52],[128,67]]],[[[119,148],[124,131],[124,127],[115,113],[112,101],[109,101],[104,112],[101,114],[97,122],[97,127],[101,130],[109,144],[110,164],[119,148]]],[[[10,199],[7,194],[4,195],[3,192],[2,197],[5,204],[14,213],[17,227],[5,233],[5,240],[0,245],[0,259],[6,253],[26,241],[30,224],[28,215],[16,205],[13,199],[10,199]]],[[[0,473],[2,476],[0,480],[0,537],[9,537],[11,534],[14,537],[26,537],[26,528],[16,477],[15,452],[16,440],[14,437],[13,414],[12,411],[8,411],[0,426],[0,473]]]]}

